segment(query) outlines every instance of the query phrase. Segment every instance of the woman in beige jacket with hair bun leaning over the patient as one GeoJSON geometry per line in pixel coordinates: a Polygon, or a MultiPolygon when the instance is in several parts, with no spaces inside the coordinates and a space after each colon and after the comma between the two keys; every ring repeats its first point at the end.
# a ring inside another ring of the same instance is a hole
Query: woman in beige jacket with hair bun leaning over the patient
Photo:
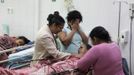
{"type": "MultiPolygon", "coordinates": [[[[57,44],[54,35],[62,31],[64,27],[64,19],[59,15],[59,12],[50,14],[47,18],[48,24],[44,25],[38,32],[35,41],[35,52],[33,60],[53,57],[54,59],[62,59],[69,53],[63,53],[57,50],[57,44]]],[[[33,61],[31,65],[37,64],[39,61],[33,61]]]]}

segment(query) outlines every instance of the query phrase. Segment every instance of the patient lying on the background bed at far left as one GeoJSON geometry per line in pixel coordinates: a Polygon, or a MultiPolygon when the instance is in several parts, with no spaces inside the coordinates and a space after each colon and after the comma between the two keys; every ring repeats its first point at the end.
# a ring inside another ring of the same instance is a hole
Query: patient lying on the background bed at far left
{"type": "MultiPolygon", "coordinates": [[[[28,40],[24,36],[19,36],[17,38],[10,37],[8,35],[0,36],[0,51],[10,49],[16,46],[21,46],[29,42],[30,40],[28,40]]],[[[0,61],[7,59],[10,53],[12,52],[0,54],[0,61]]],[[[0,66],[4,67],[3,64],[0,64],[0,66]]]]}

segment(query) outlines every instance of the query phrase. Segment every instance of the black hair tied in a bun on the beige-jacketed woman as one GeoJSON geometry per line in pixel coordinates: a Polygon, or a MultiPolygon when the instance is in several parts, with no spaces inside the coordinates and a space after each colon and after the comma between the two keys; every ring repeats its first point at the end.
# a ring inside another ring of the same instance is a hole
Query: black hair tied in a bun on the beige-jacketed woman
{"type": "Polygon", "coordinates": [[[47,21],[49,22],[48,25],[52,25],[55,23],[56,25],[64,25],[65,20],[59,15],[58,11],[55,11],[54,14],[49,14],[47,21]]]}

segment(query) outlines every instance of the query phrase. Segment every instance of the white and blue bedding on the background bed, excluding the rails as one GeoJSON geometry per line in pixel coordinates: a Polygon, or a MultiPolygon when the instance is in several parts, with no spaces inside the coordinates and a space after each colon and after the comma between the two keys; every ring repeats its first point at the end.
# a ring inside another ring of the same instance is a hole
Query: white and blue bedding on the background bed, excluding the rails
{"type": "Polygon", "coordinates": [[[28,61],[32,59],[33,52],[34,47],[31,47],[14,54],[10,54],[8,56],[7,68],[17,69],[24,66],[28,66],[28,61]]]}

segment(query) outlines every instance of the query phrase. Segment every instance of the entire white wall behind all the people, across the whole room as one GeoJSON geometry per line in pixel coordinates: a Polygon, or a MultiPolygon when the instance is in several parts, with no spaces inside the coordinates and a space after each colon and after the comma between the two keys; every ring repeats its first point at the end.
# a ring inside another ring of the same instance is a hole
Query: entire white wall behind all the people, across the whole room
{"type": "MultiPolygon", "coordinates": [[[[101,25],[111,34],[112,40],[117,42],[119,3],[116,0],[73,0],[75,9],[83,15],[81,26],[88,35],[92,28],[101,25]]],[[[128,3],[134,2],[128,0],[128,3]]],[[[129,5],[122,3],[121,7],[121,30],[130,31],[129,5]]],[[[11,35],[26,35],[34,39],[37,30],[47,24],[48,14],[55,10],[65,18],[67,10],[64,7],[64,0],[5,0],[5,4],[0,3],[0,24],[11,26],[11,35]],[[7,2],[6,2],[7,1],[7,2]],[[7,3],[7,4],[6,4],[7,3]],[[13,14],[7,13],[7,8],[13,8],[13,14]]],[[[134,25],[134,22],[133,22],[134,25]]],[[[0,27],[0,33],[1,33],[0,27]]],[[[134,32],[134,27],[133,27],[134,32]]],[[[131,69],[134,75],[134,37],[132,38],[132,59],[131,69]]],[[[121,47],[122,56],[130,63],[129,42],[121,47]]],[[[130,65],[130,64],[129,64],[130,65]]]]}

